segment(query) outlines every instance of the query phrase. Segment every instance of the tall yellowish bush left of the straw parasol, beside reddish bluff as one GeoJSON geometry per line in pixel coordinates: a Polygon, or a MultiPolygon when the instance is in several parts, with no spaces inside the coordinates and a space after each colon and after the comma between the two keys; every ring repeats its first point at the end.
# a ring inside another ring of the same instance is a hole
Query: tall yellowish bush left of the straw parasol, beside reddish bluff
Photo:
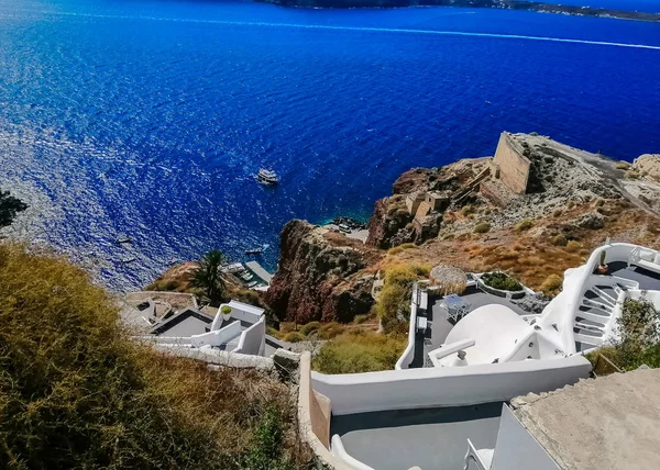
{"type": "MultiPolygon", "coordinates": [[[[413,283],[428,277],[429,271],[430,267],[419,265],[396,265],[385,270],[383,289],[374,305],[374,312],[386,332],[406,325],[405,321],[410,317],[413,283]]],[[[404,329],[407,329],[407,326],[404,329]]]]}

